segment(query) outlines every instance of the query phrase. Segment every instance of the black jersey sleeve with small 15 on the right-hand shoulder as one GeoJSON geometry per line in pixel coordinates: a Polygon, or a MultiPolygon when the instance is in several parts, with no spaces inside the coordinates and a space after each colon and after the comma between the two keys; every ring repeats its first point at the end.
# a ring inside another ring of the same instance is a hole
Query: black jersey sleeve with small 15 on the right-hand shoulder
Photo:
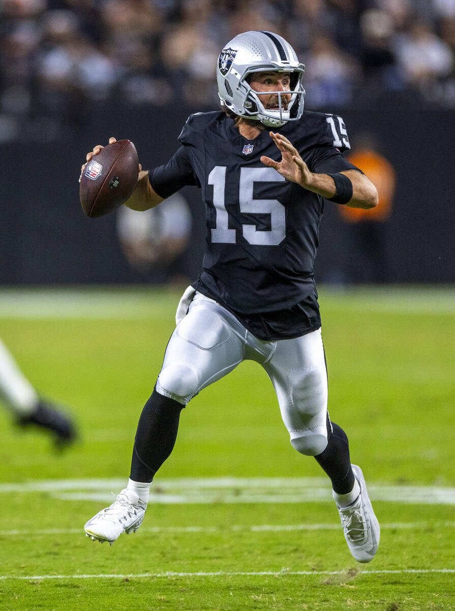
{"type": "Polygon", "coordinates": [[[334,174],[345,170],[362,172],[357,166],[349,163],[343,155],[343,151],[349,150],[351,145],[342,117],[338,115],[324,115],[324,117],[321,136],[312,155],[312,172],[317,174],[334,174]]]}

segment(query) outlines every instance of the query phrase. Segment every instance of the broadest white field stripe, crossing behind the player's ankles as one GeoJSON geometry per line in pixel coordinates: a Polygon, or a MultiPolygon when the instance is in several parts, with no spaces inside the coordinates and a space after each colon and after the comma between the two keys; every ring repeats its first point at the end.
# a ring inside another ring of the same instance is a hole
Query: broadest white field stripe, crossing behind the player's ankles
{"type": "MultiPolygon", "coordinates": [[[[32,480],[0,484],[0,493],[49,492],[71,501],[113,502],[126,479],[32,480]]],[[[368,483],[371,500],[398,503],[455,505],[455,488],[368,483]]],[[[221,477],[175,478],[152,485],[149,503],[305,503],[333,502],[326,478],[221,477]]]]}

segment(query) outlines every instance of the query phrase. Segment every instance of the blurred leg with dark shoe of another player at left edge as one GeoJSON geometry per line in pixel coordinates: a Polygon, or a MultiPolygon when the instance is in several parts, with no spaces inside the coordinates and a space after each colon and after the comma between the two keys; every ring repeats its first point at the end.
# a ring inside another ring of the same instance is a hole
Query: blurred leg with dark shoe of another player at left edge
{"type": "Polygon", "coordinates": [[[70,417],[38,396],[1,340],[0,399],[15,415],[18,425],[47,431],[59,448],[74,441],[76,430],[70,417]]]}

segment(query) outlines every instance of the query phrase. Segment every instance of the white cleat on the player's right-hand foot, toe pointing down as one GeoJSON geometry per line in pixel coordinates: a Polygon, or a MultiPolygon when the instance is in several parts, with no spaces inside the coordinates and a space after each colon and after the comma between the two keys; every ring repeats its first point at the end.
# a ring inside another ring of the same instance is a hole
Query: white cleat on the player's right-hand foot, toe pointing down
{"type": "Polygon", "coordinates": [[[356,464],[352,467],[354,476],[359,482],[360,494],[348,507],[340,507],[338,503],[337,507],[349,550],[357,562],[364,563],[373,560],[374,554],[378,551],[380,529],[371,507],[362,469],[356,464]]]}

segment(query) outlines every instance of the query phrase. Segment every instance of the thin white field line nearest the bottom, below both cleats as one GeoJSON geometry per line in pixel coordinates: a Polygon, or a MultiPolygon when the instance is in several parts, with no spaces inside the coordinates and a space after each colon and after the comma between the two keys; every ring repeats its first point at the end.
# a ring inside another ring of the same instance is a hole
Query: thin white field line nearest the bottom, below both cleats
{"type": "MultiPolygon", "coordinates": [[[[379,569],[378,571],[357,571],[352,577],[359,575],[396,575],[396,574],[428,574],[428,573],[455,573],[455,569],[379,569]]],[[[349,575],[348,571],[199,571],[197,573],[128,573],[128,574],[98,574],[98,575],[0,575],[0,579],[140,579],[143,577],[279,577],[287,575],[349,575]]]]}

